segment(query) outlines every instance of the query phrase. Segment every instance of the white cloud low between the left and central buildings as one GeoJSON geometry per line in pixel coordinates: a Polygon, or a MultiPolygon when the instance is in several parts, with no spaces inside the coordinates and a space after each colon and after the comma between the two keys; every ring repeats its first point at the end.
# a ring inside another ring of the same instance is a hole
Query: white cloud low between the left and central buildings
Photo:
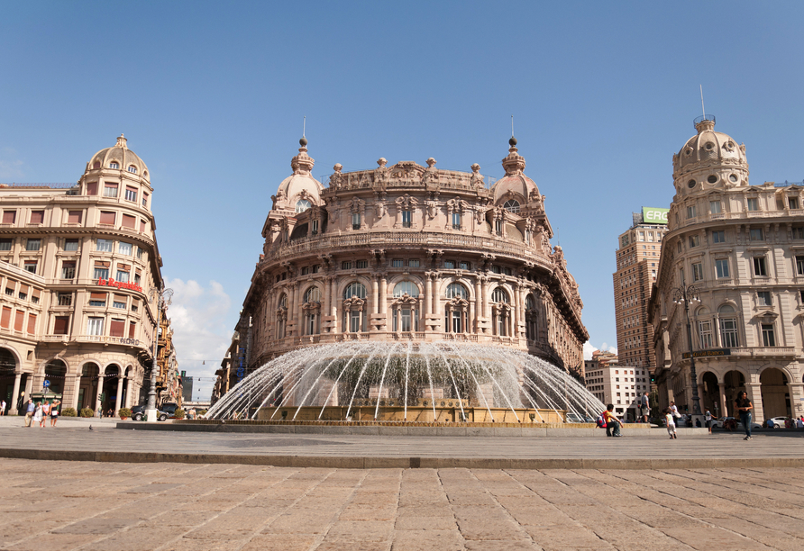
{"type": "Polygon", "coordinates": [[[173,289],[168,317],[174,330],[178,369],[187,371],[187,376],[207,379],[193,382],[193,399],[208,400],[215,385],[208,379],[215,377],[232,342],[232,300],[216,281],[205,287],[192,279],[176,278],[165,280],[165,286],[173,289]]]}

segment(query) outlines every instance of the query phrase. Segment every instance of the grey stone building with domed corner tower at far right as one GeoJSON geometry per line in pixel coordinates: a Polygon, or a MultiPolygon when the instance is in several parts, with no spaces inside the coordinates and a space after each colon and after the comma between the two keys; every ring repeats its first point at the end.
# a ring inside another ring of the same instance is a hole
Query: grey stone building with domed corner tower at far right
{"type": "Polygon", "coordinates": [[[695,128],[673,156],[675,195],[649,306],[660,406],[674,400],[691,413],[696,384],[702,411],[731,415],[745,390],[754,420],[799,416],[804,187],[750,185],[745,145],[715,131],[714,117],[695,128]],[[678,301],[690,285],[697,300],[678,301]]]}

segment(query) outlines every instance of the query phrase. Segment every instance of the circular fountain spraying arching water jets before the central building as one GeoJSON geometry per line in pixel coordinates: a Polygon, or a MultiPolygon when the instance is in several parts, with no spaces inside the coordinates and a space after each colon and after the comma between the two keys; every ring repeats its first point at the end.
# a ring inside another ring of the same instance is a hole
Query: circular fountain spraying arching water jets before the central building
{"type": "Polygon", "coordinates": [[[206,419],[560,423],[603,409],[564,370],[516,349],[354,342],[277,357],[206,419]]]}

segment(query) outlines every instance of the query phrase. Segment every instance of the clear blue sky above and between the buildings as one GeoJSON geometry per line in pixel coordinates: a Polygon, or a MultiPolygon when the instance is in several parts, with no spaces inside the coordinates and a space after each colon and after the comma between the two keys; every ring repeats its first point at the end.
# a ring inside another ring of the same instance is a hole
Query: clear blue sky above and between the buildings
{"type": "Polygon", "coordinates": [[[0,182],[74,182],[124,132],[151,169],[180,368],[209,377],[304,115],[315,176],[434,157],[498,177],[513,114],[608,348],[617,235],[672,201],[699,85],[754,185],[804,178],[802,23],[800,2],[5,2],[0,182]]]}

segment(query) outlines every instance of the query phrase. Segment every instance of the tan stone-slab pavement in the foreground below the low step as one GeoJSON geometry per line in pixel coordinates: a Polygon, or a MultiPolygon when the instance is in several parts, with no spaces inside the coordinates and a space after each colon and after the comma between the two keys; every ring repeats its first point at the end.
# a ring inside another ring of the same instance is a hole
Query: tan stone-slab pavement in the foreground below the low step
{"type": "Polygon", "coordinates": [[[0,459],[0,549],[804,548],[804,472],[0,459]]]}

